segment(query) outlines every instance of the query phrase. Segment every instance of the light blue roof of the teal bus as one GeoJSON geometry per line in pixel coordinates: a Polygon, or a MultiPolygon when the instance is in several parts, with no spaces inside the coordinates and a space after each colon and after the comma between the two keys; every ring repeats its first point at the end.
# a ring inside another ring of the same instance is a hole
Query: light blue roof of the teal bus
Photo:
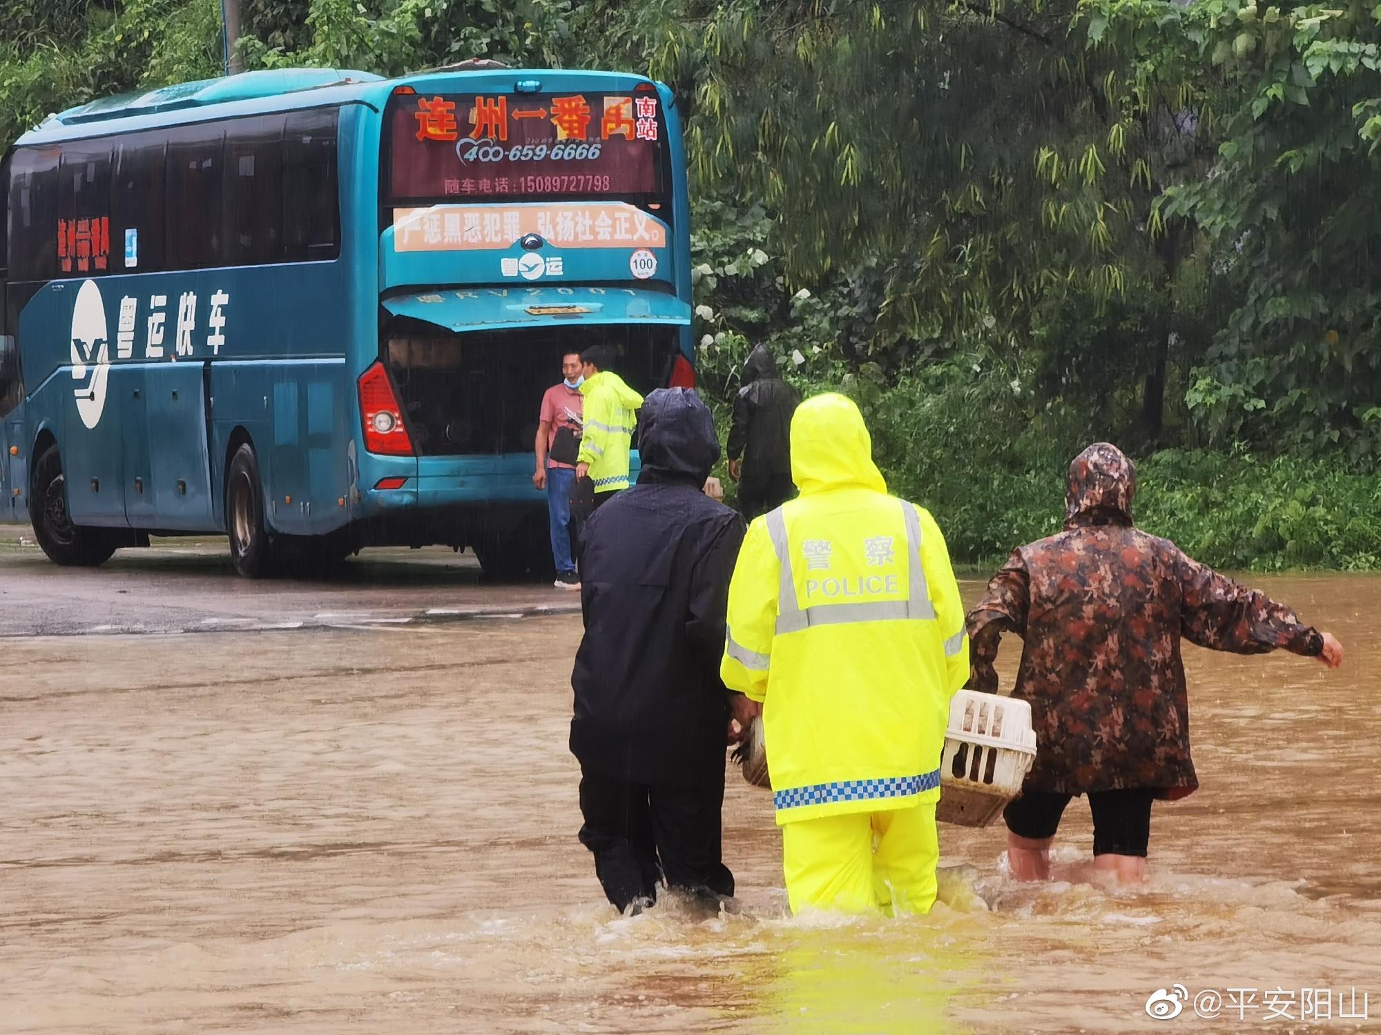
{"type": "Polygon", "coordinates": [[[261,69],[220,79],[178,83],[144,92],[98,98],[77,108],[50,115],[40,126],[19,137],[15,144],[59,142],[156,126],[203,121],[209,117],[316,108],[329,103],[363,101],[383,108],[388,95],[398,87],[412,87],[418,91],[454,90],[457,73],[478,79],[475,88],[482,91],[511,90],[515,88],[519,79],[529,80],[529,83],[523,83],[525,87],[545,83],[555,90],[570,90],[577,84],[603,86],[609,90],[627,90],[634,83],[652,86],[652,80],[634,73],[516,69],[489,61],[467,61],[392,80],[355,69],[261,69]]]}

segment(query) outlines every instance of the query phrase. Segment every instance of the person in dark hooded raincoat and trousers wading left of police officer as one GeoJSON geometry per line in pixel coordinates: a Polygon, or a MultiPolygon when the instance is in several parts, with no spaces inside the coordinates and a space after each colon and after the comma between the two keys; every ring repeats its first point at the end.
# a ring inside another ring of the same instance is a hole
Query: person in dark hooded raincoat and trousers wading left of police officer
{"type": "Polygon", "coordinates": [[[743,522],[702,491],[720,443],[693,391],[648,396],[641,455],[638,483],[581,533],[586,633],[570,676],[580,842],[620,912],[663,879],[707,901],[733,894],[720,810],[731,711],[746,705],[720,679],[743,522]]]}

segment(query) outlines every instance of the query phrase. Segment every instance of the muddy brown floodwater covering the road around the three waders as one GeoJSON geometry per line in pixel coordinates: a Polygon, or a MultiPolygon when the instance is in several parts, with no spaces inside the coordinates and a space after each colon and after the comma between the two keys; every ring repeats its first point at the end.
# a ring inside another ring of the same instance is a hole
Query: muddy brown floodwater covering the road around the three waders
{"type": "Polygon", "coordinates": [[[1203,788],[1156,806],[1148,889],[1080,882],[1076,802],[1062,879],[1008,880],[1000,824],[945,827],[945,901],[906,920],[789,919],[736,771],[744,912],[615,916],[574,838],[579,617],[0,640],[0,1029],[1374,1027],[1381,580],[1258,582],[1346,665],[1186,649],[1203,788]],[[1222,1014],[1148,1017],[1175,984],[1222,1014]]]}

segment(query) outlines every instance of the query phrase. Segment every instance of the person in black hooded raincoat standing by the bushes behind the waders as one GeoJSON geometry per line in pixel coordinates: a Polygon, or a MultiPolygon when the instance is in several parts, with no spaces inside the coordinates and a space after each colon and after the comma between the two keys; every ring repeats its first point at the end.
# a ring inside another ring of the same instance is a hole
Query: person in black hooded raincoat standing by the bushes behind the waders
{"type": "Polygon", "coordinates": [[[733,400],[726,453],[729,476],[739,483],[739,509],[747,520],[775,511],[793,495],[791,414],[801,395],[786,384],[764,345],[743,364],[743,388],[733,400]]]}

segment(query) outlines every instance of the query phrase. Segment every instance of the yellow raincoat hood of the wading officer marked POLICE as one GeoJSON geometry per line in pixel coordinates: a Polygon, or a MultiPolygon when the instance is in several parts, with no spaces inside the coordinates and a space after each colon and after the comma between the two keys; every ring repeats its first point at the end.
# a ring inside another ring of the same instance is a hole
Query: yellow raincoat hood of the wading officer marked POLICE
{"type": "Polygon", "coordinates": [[[818,395],[801,403],[791,418],[791,480],[801,493],[833,489],[887,491],[873,462],[873,436],[853,400],[818,395]]]}

